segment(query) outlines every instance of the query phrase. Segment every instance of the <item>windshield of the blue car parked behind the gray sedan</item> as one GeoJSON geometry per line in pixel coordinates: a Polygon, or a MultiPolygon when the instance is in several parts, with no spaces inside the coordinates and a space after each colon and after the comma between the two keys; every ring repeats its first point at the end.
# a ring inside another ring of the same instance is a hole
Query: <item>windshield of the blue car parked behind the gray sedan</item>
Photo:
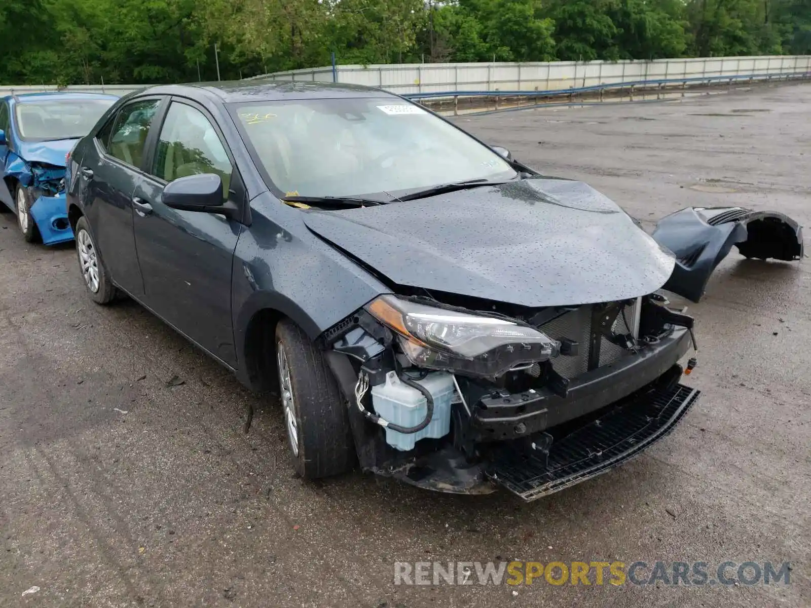
{"type": "Polygon", "coordinates": [[[112,99],[22,101],[17,129],[22,139],[79,139],[88,135],[112,99]]]}

